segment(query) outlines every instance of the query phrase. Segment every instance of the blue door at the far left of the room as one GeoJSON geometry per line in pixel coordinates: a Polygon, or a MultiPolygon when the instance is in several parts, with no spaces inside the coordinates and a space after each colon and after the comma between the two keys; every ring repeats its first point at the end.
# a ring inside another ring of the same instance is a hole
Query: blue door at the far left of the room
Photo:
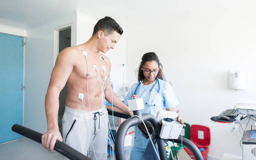
{"type": "Polygon", "coordinates": [[[0,33],[0,143],[21,138],[11,128],[22,125],[23,37],[0,33]]]}

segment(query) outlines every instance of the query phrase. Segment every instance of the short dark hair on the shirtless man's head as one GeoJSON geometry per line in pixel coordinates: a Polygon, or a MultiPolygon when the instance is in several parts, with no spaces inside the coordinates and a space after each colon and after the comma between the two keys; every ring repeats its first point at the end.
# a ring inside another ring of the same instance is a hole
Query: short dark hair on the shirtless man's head
{"type": "Polygon", "coordinates": [[[110,35],[113,31],[118,32],[120,35],[123,34],[123,29],[115,22],[111,17],[104,17],[100,19],[93,28],[92,35],[95,35],[99,30],[102,30],[105,35],[110,35]]]}

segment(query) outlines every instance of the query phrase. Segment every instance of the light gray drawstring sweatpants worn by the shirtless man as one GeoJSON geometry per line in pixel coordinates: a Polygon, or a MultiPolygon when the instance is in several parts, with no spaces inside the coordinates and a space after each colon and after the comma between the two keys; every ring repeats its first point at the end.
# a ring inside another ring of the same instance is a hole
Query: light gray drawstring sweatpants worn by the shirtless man
{"type": "Polygon", "coordinates": [[[105,107],[82,112],[65,107],[63,142],[93,160],[107,160],[108,112],[105,107]]]}

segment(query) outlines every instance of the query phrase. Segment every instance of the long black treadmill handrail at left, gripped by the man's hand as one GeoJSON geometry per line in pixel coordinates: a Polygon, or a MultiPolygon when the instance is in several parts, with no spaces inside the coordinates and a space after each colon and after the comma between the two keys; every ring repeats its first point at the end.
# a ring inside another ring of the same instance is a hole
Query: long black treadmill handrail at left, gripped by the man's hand
{"type": "MultiPolygon", "coordinates": [[[[41,143],[41,137],[43,135],[41,133],[38,133],[34,130],[31,130],[18,124],[13,125],[12,130],[20,135],[30,138],[31,140],[41,143]]],[[[70,160],[91,160],[87,156],[83,155],[82,153],[66,145],[65,143],[62,143],[59,140],[56,140],[54,150],[59,152],[61,155],[64,155],[65,157],[69,158],[70,160]]]]}

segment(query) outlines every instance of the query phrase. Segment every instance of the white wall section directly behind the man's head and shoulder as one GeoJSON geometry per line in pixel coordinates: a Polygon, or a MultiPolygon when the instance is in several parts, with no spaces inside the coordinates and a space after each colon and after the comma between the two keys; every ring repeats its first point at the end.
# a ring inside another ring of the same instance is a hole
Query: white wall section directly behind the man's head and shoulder
{"type": "MultiPolygon", "coordinates": [[[[88,14],[82,13],[77,10],[77,45],[82,44],[90,39],[92,36],[93,28],[98,20],[104,18],[108,13],[102,13],[102,16],[92,17],[88,14]]],[[[125,30],[123,20],[116,19],[115,16],[111,16],[116,22],[125,30]]],[[[125,31],[120,37],[118,44],[115,45],[114,50],[110,50],[106,53],[106,56],[111,61],[111,81],[113,82],[114,91],[117,92],[123,83],[122,64],[125,63],[125,31]]]]}

